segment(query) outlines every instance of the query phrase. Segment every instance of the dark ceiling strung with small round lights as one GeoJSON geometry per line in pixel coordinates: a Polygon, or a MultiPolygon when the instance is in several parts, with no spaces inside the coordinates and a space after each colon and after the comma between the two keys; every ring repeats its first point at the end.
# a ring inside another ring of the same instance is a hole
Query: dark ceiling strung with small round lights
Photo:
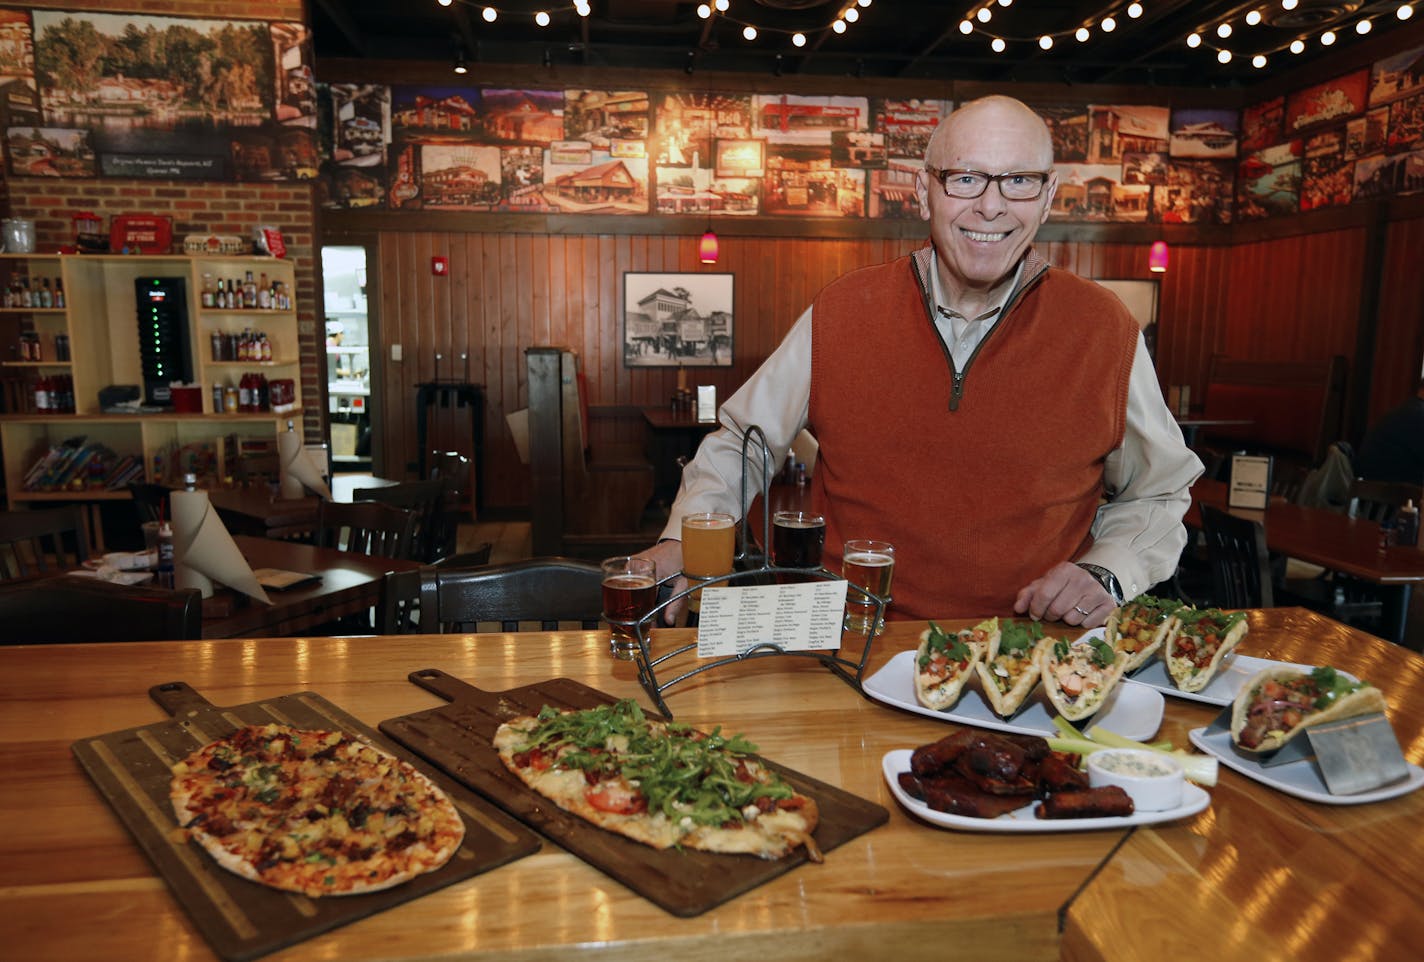
{"type": "Polygon", "coordinates": [[[829,27],[853,0],[729,0],[709,20],[698,1],[590,0],[591,14],[580,17],[568,0],[488,0],[494,23],[484,3],[470,0],[312,0],[310,11],[318,61],[453,64],[464,56],[471,64],[1166,87],[1253,85],[1401,27],[1401,0],[1299,0],[1292,11],[1280,0],[1143,0],[1138,18],[1126,13],[1129,0],[871,0],[837,34],[829,27]],[[990,21],[961,34],[960,21],[983,6],[990,21]],[[534,23],[541,9],[547,27],[534,23]],[[1252,10],[1262,14],[1256,26],[1245,21],[1252,10]],[[1108,14],[1118,23],[1112,33],[1101,30],[1108,14]],[[1356,34],[1361,18],[1373,20],[1368,38],[1356,34]],[[1223,20],[1235,28],[1229,40],[1215,34],[1223,20]],[[742,37],[746,24],[759,30],[752,41],[742,37]],[[1091,27],[1087,43],[1072,36],[1081,26],[1091,27]],[[1327,48],[1319,37],[1331,27],[1340,40],[1327,48]],[[1188,48],[1199,28],[1206,43],[1188,48]],[[805,47],[792,44],[796,31],[805,47]],[[1037,41],[1044,34],[1055,36],[1047,51],[1037,41]],[[995,36],[1005,38],[1002,54],[990,48],[995,36]],[[1297,37],[1306,51],[1293,56],[1286,46],[1297,37]],[[1219,47],[1233,51],[1232,63],[1218,63],[1219,47]],[[1267,54],[1265,68],[1250,65],[1256,53],[1267,54]]]}

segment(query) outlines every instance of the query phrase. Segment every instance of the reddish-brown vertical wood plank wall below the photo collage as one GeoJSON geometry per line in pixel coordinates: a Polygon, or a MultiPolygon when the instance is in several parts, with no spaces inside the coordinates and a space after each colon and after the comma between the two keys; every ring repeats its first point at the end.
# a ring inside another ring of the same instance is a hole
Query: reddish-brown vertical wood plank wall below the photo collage
{"type": "MultiPolygon", "coordinates": [[[[1424,354],[1420,333],[1424,272],[1417,252],[1424,219],[1391,225],[1376,369],[1388,374],[1371,396],[1371,416],[1407,396],[1424,354]]],[[[696,260],[695,236],[553,235],[383,231],[377,240],[382,356],[399,343],[403,360],[383,366],[384,472],[402,477],[417,458],[414,390],[420,381],[464,379],[486,387],[486,505],[528,504],[506,414],[525,407],[524,350],[567,344],[584,360],[590,404],[627,417],[600,418],[592,443],[641,435],[639,406],[665,404],[674,369],[625,369],[622,275],[735,275],[735,363],[689,369],[689,384],[716,384],[726,397],[772,352],[820,287],[857,266],[918,246],[910,239],[739,238],[722,242],[715,266],[696,260]],[[430,259],[450,259],[446,278],[430,259]],[[437,367],[436,354],[443,354],[437,367]],[[468,370],[460,360],[468,356],[468,370]]],[[[1142,243],[1041,243],[1049,260],[1089,278],[1149,278],[1142,243]]],[[[1162,278],[1158,376],[1190,384],[1198,401],[1213,353],[1287,360],[1344,354],[1353,361],[1361,285],[1363,228],[1236,246],[1175,246],[1162,278]]],[[[605,411],[608,413],[608,411],[605,411]]],[[[431,447],[470,450],[467,413],[436,410],[431,447]]],[[[413,477],[413,470],[409,477],[413,477]]]]}

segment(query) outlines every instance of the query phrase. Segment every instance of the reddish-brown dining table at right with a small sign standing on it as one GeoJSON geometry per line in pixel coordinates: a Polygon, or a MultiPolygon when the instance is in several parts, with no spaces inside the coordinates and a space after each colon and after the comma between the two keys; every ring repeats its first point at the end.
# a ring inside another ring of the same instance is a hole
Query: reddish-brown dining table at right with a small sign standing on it
{"type": "Polygon", "coordinates": [[[1276,498],[1265,511],[1229,508],[1227,494],[1225,481],[1199,478],[1192,485],[1192,507],[1183,521],[1200,528],[1198,505],[1209,504],[1237,518],[1259,521],[1266,529],[1266,546],[1274,552],[1380,585],[1386,636],[1404,642],[1410,596],[1414,585],[1424,582],[1424,549],[1417,545],[1381,549],[1380,525],[1374,521],[1357,521],[1339,511],[1307,508],[1276,498]]]}

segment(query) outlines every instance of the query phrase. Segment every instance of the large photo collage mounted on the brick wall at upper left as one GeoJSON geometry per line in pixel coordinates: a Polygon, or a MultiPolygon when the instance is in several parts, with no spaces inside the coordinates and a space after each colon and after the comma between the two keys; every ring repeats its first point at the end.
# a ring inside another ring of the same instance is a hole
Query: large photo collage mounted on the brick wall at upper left
{"type": "Polygon", "coordinates": [[[305,24],[0,10],[14,176],[310,179],[316,115],[305,24]]]}

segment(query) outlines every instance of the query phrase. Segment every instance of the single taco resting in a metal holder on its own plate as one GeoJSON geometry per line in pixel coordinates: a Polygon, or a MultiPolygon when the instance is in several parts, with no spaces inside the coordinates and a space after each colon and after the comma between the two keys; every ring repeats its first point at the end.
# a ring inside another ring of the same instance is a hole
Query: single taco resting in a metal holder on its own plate
{"type": "Polygon", "coordinates": [[[1232,741],[1243,751],[1274,751],[1313,724],[1384,712],[1384,693],[1351,682],[1329,665],[1302,672],[1269,667],[1242,686],[1232,706],[1232,741]]]}

